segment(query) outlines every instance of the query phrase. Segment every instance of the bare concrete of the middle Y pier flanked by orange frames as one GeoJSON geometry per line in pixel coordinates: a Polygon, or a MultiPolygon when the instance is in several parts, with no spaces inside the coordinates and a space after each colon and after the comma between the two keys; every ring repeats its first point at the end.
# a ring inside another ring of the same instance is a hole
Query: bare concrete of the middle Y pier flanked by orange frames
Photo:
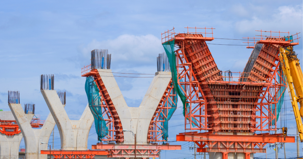
{"type": "MultiPolygon", "coordinates": [[[[148,144],[148,127],[171,80],[171,72],[156,72],[140,106],[128,107],[112,70],[98,69],[98,71],[120,117],[122,128],[136,134],[137,144],[148,144]]],[[[134,142],[132,133],[124,132],[124,144],[134,144],[134,142]]]]}

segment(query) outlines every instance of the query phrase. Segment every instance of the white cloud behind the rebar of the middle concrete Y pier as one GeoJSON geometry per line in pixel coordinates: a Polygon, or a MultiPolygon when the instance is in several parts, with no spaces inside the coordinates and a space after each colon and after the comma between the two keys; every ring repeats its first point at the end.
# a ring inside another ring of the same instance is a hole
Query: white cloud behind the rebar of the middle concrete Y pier
{"type": "Polygon", "coordinates": [[[156,57],[164,49],[161,40],[154,35],[120,35],[106,41],[92,40],[82,48],[86,59],[90,58],[93,49],[108,49],[112,54],[112,67],[134,67],[138,65],[156,65],[156,57]],[[114,65],[114,66],[113,66],[114,65]]]}

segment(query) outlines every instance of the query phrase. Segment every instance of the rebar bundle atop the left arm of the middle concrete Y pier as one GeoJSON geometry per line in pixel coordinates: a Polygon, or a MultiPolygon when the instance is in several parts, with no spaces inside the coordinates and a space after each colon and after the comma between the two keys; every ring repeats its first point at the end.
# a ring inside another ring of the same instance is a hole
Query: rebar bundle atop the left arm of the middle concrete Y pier
{"type": "Polygon", "coordinates": [[[95,49],[91,51],[92,69],[111,69],[112,54],[108,50],[95,49]]]}

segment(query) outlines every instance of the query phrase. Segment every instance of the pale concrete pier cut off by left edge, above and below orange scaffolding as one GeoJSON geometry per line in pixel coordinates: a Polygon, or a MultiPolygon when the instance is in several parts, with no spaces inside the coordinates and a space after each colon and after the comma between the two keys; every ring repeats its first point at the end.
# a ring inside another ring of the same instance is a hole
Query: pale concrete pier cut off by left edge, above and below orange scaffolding
{"type": "MultiPolygon", "coordinates": [[[[0,119],[15,120],[11,111],[0,111],[0,119]]],[[[0,159],[18,159],[22,137],[22,133],[12,136],[0,133],[0,159]]]]}

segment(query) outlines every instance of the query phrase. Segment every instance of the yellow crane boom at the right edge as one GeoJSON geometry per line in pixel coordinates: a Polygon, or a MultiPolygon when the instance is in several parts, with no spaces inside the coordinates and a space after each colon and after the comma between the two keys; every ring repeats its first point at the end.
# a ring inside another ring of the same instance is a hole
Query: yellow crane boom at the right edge
{"type": "Polygon", "coordinates": [[[297,55],[294,53],[293,48],[289,46],[284,49],[280,47],[280,62],[282,65],[283,72],[285,74],[288,90],[291,97],[291,105],[294,110],[295,120],[300,136],[301,142],[303,141],[303,125],[302,125],[302,71],[297,55]],[[300,103],[300,110],[298,108],[298,102],[300,103]],[[301,118],[300,118],[301,117],[301,118]]]}

